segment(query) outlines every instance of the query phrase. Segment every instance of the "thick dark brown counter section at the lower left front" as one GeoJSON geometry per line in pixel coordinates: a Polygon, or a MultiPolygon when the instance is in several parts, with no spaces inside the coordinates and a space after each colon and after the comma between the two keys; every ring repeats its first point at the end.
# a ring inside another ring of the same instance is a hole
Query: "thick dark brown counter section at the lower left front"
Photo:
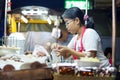
{"type": "Polygon", "coordinates": [[[50,68],[0,71],[0,80],[53,80],[53,75],[50,68]]]}

